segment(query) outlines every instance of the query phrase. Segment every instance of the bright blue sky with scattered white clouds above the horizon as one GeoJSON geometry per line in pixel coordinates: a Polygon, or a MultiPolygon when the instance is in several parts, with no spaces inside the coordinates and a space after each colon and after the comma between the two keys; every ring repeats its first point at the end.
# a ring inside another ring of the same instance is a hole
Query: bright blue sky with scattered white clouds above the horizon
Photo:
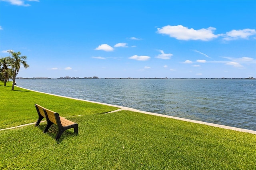
{"type": "Polygon", "coordinates": [[[256,1],[0,0],[17,77],[256,77],[256,1]]]}

